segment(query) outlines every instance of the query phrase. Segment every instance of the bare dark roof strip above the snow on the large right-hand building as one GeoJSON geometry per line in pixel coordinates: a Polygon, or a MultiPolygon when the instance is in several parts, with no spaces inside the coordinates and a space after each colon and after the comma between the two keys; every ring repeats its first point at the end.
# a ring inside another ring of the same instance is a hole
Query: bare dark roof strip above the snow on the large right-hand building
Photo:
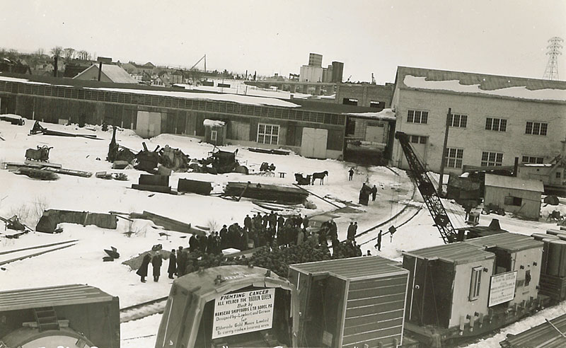
{"type": "Polygon", "coordinates": [[[509,87],[526,87],[530,91],[541,89],[566,90],[566,82],[558,80],[528,79],[524,77],[497,76],[489,74],[469,73],[463,71],[447,71],[423,69],[409,66],[398,66],[397,83],[400,88],[408,88],[403,80],[405,76],[426,77],[427,81],[460,81],[462,85],[480,85],[484,91],[495,91],[509,87]]]}

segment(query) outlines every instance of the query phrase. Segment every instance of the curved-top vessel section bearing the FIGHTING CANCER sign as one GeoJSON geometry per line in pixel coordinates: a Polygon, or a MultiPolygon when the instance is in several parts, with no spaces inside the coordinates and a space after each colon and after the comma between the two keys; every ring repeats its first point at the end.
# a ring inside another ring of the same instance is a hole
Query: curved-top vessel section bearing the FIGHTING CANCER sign
{"type": "Polygon", "coordinates": [[[155,347],[289,347],[291,290],[265,268],[239,265],[175,279],[155,347]]]}

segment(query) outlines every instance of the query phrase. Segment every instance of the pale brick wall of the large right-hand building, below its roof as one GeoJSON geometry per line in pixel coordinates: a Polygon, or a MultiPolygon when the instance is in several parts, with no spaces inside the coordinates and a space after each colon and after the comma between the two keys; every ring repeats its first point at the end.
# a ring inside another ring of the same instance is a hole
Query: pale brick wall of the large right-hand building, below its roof
{"type": "MultiPolygon", "coordinates": [[[[395,131],[428,137],[426,167],[439,172],[444,144],[446,114],[468,116],[466,128],[450,127],[449,148],[463,149],[463,164],[480,166],[482,151],[503,153],[503,166],[513,166],[523,155],[552,160],[560,153],[560,140],[566,137],[566,104],[510,100],[487,96],[461,95],[395,88],[393,105],[397,117],[395,131]],[[408,123],[408,110],[428,112],[427,124],[408,123]],[[507,120],[507,131],[485,129],[486,117],[507,120]],[[548,123],[546,136],[525,134],[526,121],[548,123]]],[[[397,140],[393,144],[393,165],[400,166],[404,154],[397,140]]],[[[406,169],[406,168],[405,168],[406,169]]],[[[445,168],[445,173],[461,169],[445,168]]]]}

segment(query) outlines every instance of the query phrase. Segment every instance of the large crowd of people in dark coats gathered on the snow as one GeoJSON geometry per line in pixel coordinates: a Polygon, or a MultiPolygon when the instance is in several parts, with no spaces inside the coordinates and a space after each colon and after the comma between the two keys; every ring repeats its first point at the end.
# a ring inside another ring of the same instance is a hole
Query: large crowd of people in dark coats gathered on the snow
{"type": "MultiPolygon", "coordinates": [[[[180,246],[171,250],[168,264],[168,277],[182,277],[201,268],[220,265],[252,265],[271,269],[283,277],[287,276],[288,265],[300,262],[328,260],[362,256],[362,250],[356,244],[357,222],[350,224],[347,240],[338,240],[338,230],[335,221],[329,219],[318,229],[307,228],[308,216],[301,214],[282,216],[277,212],[270,214],[256,213],[246,215],[243,226],[238,223],[222,226],[220,231],[212,231],[208,236],[193,235],[189,239],[189,247],[180,246]],[[330,254],[328,241],[332,245],[330,254]],[[222,250],[236,248],[255,250],[250,257],[226,257],[222,250]],[[309,251],[310,250],[310,251],[309,251]],[[283,273],[279,273],[283,272],[283,273]]],[[[153,257],[149,253],[144,259],[137,274],[141,282],[146,282],[149,264],[153,267],[154,282],[158,282],[162,257],[159,252],[153,257]]]]}

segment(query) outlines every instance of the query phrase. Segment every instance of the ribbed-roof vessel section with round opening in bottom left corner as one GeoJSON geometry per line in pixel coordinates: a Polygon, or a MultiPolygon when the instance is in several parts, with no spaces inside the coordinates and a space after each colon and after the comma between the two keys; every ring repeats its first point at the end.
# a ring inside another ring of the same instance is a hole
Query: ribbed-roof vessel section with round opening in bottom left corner
{"type": "Polygon", "coordinates": [[[119,299],[86,285],[1,291],[0,347],[119,348],[119,299]]]}

